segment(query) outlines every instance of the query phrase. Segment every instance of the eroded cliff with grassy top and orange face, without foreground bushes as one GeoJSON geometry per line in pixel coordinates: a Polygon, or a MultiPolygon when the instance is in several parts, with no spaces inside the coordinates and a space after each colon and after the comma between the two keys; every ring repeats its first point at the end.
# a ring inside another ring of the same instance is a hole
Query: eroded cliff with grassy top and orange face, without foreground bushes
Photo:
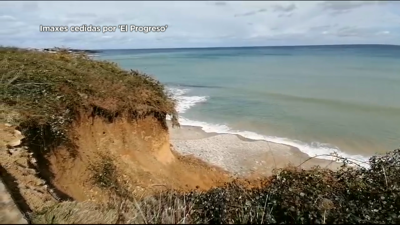
{"type": "Polygon", "coordinates": [[[175,102],[152,77],[67,51],[2,48],[0,58],[2,177],[19,184],[10,189],[23,211],[205,190],[228,179],[171,149],[166,116],[179,126],[175,102]]]}

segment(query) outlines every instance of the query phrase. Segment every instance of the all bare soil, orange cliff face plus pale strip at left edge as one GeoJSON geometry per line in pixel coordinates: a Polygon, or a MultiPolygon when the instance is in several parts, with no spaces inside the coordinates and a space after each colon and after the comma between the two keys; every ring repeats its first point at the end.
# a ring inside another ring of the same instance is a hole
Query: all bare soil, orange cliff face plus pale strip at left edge
{"type": "Polygon", "coordinates": [[[168,131],[152,117],[113,123],[88,118],[73,127],[74,151],[59,147],[33,159],[38,150],[32,149],[32,143],[30,148],[7,149],[7,143],[15,141],[15,127],[1,125],[1,164],[15,178],[16,191],[29,206],[23,211],[41,210],[60,200],[110,201],[115,193],[93,180],[93,165],[103,163],[104,157],[112,159],[116,168],[112,176],[136,198],[163,189],[207,190],[231,179],[218,167],[177,154],[171,149],[168,131]]]}

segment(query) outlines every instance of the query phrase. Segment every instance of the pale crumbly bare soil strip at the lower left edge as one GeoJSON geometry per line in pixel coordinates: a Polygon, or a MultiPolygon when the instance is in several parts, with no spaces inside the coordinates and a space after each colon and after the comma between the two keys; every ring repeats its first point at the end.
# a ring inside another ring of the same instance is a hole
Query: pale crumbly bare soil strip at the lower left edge
{"type": "Polygon", "coordinates": [[[0,169],[4,188],[1,189],[1,221],[26,223],[24,215],[53,205],[57,200],[43,179],[37,176],[31,154],[19,145],[22,135],[15,127],[0,124],[0,169]],[[10,146],[12,145],[12,146],[10,146]],[[14,147],[13,147],[14,146],[14,147]]]}

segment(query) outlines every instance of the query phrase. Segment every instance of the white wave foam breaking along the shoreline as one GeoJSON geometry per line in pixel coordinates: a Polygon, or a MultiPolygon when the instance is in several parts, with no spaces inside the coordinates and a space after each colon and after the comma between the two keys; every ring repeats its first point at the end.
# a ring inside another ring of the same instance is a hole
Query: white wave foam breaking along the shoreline
{"type": "MultiPolygon", "coordinates": [[[[184,114],[188,109],[192,108],[198,103],[205,102],[208,99],[207,96],[184,96],[190,91],[189,89],[179,89],[179,88],[168,88],[168,89],[172,93],[173,97],[177,100],[178,104],[177,111],[180,114],[184,114]]],[[[167,117],[167,119],[170,120],[170,117],[167,117]]],[[[333,147],[325,143],[313,142],[307,144],[298,140],[291,140],[288,138],[265,136],[251,131],[233,130],[225,124],[210,124],[207,122],[190,120],[182,116],[180,116],[179,122],[181,125],[201,127],[201,129],[207,133],[237,134],[252,140],[271,141],[275,143],[290,145],[298,148],[300,151],[306,153],[310,157],[334,160],[335,158],[329,155],[332,153],[336,153],[338,156],[354,160],[354,162],[361,164],[362,166],[365,167],[369,166],[368,157],[362,155],[349,155],[344,151],[340,150],[339,148],[333,147]]]]}

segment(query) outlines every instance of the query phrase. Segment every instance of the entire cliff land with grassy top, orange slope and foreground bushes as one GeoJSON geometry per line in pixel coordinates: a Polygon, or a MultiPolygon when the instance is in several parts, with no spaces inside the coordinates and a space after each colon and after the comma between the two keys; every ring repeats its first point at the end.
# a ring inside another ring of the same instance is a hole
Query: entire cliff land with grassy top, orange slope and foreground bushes
{"type": "Polygon", "coordinates": [[[146,74],[0,48],[0,77],[0,222],[400,223],[400,149],[232,180],[173,150],[175,102],[146,74]]]}

